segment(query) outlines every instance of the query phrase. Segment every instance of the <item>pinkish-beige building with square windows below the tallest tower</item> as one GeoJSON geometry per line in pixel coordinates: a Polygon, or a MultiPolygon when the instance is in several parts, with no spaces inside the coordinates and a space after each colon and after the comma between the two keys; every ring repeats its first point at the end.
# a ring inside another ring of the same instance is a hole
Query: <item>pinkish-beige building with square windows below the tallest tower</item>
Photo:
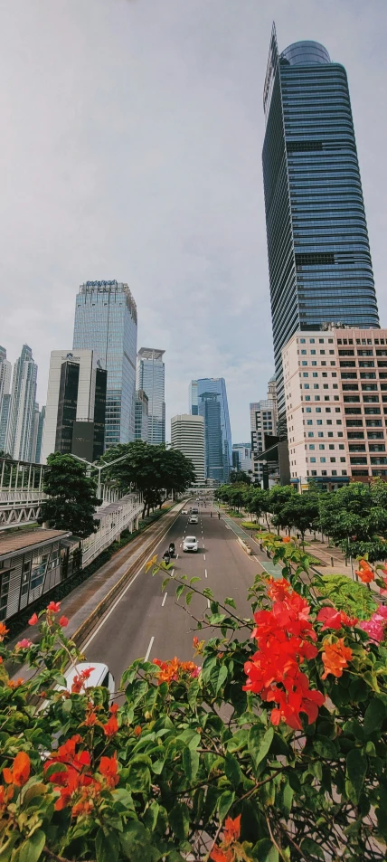
{"type": "Polygon", "coordinates": [[[387,329],[297,332],[282,356],[291,482],[387,479],[387,329]]]}

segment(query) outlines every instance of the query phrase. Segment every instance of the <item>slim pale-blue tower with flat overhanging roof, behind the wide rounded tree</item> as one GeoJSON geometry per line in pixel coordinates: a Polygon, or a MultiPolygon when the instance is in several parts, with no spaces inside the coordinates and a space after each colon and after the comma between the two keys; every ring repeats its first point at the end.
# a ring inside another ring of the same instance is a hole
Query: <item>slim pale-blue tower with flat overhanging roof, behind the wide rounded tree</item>
{"type": "Polygon", "coordinates": [[[137,391],[148,398],[148,442],[165,443],[165,350],[141,347],[137,355],[137,391]]]}

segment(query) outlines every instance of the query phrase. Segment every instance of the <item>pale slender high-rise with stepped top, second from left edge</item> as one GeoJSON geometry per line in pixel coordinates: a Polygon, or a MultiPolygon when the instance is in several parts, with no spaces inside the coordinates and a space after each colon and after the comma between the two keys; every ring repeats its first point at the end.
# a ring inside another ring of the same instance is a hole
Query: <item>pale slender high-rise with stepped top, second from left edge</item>
{"type": "Polygon", "coordinates": [[[14,364],[5,435],[5,451],[14,459],[32,459],[37,374],[38,366],[33,362],[31,347],[24,345],[14,364]]]}

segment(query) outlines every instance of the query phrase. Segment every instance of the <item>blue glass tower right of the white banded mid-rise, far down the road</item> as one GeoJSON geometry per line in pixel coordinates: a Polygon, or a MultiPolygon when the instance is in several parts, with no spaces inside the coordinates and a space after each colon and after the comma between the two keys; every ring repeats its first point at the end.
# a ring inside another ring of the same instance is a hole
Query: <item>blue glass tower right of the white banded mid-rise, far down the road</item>
{"type": "Polygon", "coordinates": [[[232,443],[224,377],[202,377],[191,381],[190,404],[204,419],[205,478],[228,482],[232,468],[232,443]]]}

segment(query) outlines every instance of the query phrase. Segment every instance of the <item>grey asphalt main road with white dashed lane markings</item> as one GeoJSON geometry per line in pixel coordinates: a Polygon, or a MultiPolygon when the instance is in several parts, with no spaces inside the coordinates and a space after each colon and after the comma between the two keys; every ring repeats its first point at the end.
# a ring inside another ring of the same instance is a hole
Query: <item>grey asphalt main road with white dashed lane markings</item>
{"type": "MultiPolygon", "coordinates": [[[[90,661],[103,661],[109,666],[117,686],[135,658],[193,657],[193,634],[198,632],[194,620],[176,604],[175,574],[200,577],[201,583],[195,584],[198,589],[208,586],[220,600],[232,596],[241,617],[250,616],[247,591],[260,567],[245,554],[224,521],[218,520],[213,511],[210,516],[209,506],[200,507],[199,512],[197,525],[189,525],[188,516],[178,516],[155,552],[161,558],[169,542],[175,542],[177,557],[165,592],[161,592],[162,575],[152,577],[143,568],[82,647],[90,661]],[[183,553],[184,535],[196,535],[197,554],[183,553]]],[[[201,617],[207,604],[204,597],[194,596],[189,610],[201,617]]],[[[184,605],[182,599],[180,605],[184,605]]]]}

